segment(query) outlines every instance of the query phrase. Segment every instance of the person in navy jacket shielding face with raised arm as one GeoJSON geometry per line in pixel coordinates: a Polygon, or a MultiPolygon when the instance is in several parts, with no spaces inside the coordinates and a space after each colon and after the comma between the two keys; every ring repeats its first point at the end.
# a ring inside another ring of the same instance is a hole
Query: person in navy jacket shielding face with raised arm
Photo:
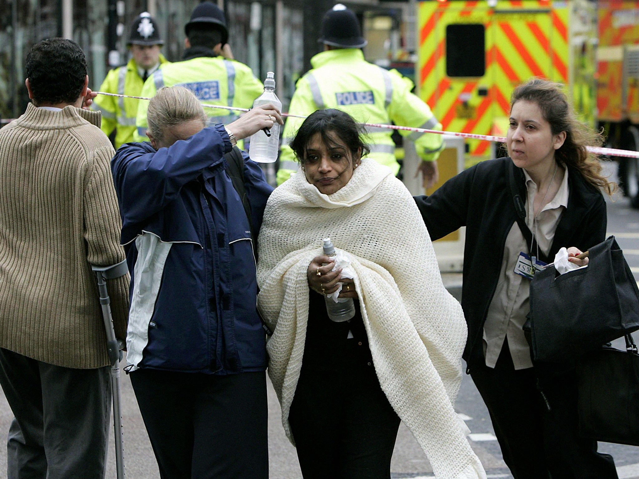
{"type": "Polygon", "coordinates": [[[226,172],[235,141],[272,105],[206,128],[196,97],[162,89],[150,143],[114,156],[131,273],[127,370],[162,478],[268,478],[265,332],[256,310],[257,238],[272,188],[244,158],[251,223],[226,172]]]}

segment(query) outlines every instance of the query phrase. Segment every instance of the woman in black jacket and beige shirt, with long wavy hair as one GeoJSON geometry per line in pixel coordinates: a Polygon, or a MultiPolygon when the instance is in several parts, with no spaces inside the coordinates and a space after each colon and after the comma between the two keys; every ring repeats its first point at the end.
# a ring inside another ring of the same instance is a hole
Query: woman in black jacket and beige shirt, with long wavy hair
{"type": "Polygon", "coordinates": [[[561,247],[581,266],[576,255],[604,240],[601,192],[614,185],[585,148],[601,138],[575,119],[560,85],[533,79],[512,94],[506,143],[509,158],[415,197],[433,240],[466,226],[466,372],[515,479],[617,478],[612,457],[577,436],[574,369],[534,365],[522,331],[530,275],[521,266],[541,268],[561,247]]]}

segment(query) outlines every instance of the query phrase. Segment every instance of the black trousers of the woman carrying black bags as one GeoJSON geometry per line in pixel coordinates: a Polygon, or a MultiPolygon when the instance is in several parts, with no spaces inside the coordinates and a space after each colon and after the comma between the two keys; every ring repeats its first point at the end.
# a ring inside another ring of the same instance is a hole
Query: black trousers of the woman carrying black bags
{"type": "Polygon", "coordinates": [[[470,376],[515,479],[617,479],[612,456],[577,434],[574,370],[553,376],[515,370],[505,341],[495,369],[478,356],[470,376]]]}

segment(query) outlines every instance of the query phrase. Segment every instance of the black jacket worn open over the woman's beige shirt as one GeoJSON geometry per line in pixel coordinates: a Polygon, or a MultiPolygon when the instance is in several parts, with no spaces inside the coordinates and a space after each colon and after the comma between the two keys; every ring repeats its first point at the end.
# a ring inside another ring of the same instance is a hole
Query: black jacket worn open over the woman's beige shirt
{"type": "MultiPolygon", "coordinates": [[[[518,193],[526,201],[523,170],[511,158],[478,163],[450,178],[430,196],[415,197],[424,223],[435,240],[466,227],[461,306],[468,324],[464,359],[469,372],[475,347],[481,347],[488,307],[495,294],[504,256],[506,236],[517,213],[509,188],[513,171],[518,193]]],[[[561,247],[582,251],[601,243],[606,235],[606,203],[597,188],[581,173],[568,169],[568,206],[562,214],[550,247],[551,259],[561,247]]]]}

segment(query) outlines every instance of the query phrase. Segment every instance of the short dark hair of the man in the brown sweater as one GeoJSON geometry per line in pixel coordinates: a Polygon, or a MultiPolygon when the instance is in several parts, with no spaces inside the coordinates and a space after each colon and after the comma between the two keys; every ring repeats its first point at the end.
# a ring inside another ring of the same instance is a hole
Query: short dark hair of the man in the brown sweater
{"type": "Polygon", "coordinates": [[[35,103],[74,103],[86,78],[86,57],[66,38],[38,42],[27,54],[26,73],[35,103]]]}

